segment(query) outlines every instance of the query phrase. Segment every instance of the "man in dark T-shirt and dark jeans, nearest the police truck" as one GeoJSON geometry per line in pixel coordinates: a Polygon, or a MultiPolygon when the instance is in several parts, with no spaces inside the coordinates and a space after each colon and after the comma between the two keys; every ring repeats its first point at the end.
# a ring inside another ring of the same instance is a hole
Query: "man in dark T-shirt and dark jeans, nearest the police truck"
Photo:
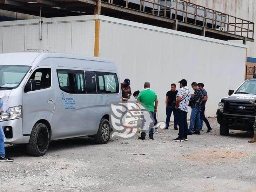
{"type": "Polygon", "coordinates": [[[203,127],[203,121],[204,123],[206,124],[207,126],[207,132],[206,133],[211,133],[211,131],[213,130],[209,124],[209,121],[207,120],[204,112],[206,110],[206,102],[207,102],[207,99],[208,99],[208,96],[207,96],[207,92],[206,90],[204,90],[204,84],[203,83],[198,83],[197,84],[198,87],[203,91],[203,99],[202,99],[202,109],[201,109],[201,112],[200,112],[200,115],[201,115],[201,128],[203,127]]]}

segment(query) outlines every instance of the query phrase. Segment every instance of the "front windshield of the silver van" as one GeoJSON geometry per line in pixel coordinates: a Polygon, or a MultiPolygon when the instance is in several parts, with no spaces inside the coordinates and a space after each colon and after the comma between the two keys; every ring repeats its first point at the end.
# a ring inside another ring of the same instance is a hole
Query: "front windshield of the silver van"
{"type": "Polygon", "coordinates": [[[15,89],[31,66],[0,65],[0,89],[15,89]]]}

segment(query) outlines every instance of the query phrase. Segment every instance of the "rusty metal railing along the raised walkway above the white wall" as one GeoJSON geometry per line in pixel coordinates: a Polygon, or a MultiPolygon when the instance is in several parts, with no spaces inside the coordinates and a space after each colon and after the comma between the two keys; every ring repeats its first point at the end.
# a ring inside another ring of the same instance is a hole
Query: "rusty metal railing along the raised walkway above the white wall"
{"type": "Polygon", "coordinates": [[[254,38],[254,23],[184,0],[101,0],[230,34],[254,38]],[[131,6],[133,4],[133,6],[131,6]],[[135,5],[135,6],[134,6],[135,5]],[[137,5],[137,6],[136,6],[137,5]]]}

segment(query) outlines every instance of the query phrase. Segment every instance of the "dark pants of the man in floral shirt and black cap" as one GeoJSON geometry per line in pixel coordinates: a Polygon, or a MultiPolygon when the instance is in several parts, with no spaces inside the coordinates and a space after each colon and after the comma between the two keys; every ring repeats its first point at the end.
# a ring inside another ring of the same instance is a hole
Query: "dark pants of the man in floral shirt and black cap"
{"type": "Polygon", "coordinates": [[[177,110],[177,119],[179,126],[178,137],[181,139],[188,139],[188,123],[187,123],[187,114],[188,112],[177,110]]]}

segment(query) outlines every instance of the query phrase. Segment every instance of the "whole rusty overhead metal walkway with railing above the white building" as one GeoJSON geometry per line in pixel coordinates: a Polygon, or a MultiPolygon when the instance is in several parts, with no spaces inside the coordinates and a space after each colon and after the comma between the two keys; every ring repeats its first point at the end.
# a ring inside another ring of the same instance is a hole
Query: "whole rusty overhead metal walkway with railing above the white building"
{"type": "Polygon", "coordinates": [[[102,14],[222,40],[254,42],[254,23],[183,0],[0,0],[0,9],[42,17],[102,14]]]}

